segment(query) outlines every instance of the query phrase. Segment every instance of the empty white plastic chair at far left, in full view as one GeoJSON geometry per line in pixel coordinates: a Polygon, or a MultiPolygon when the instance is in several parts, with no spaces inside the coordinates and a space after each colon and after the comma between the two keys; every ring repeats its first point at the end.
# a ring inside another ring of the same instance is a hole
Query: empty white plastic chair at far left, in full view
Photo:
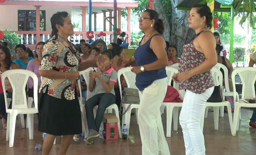
{"type": "MultiPolygon", "coordinates": [[[[31,78],[34,81],[34,88],[37,88],[37,85],[38,85],[37,75],[34,74],[32,71],[27,71],[23,69],[13,69],[13,70],[5,71],[1,75],[2,83],[4,83],[5,78],[8,78],[13,88],[12,109],[8,109],[8,105],[7,105],[8,101],[7,101],[6,92],[5,92],[5,85],[3,84],[5,108],[6,108],[6,113],[8,113],[6,141],[9,140],[9,147],[13,147],[17,114],[27,114],[27,121],[29,121],[29,139],[33,139],[33,132],[34,132],[33,115],[35,113],[38,113],[37,89],[34,89],[35,107],[28,108],[25,87],[29,79],[29,76],[31,76],[31,78]]],[[[32,101],[33,101],[33,98],[29,97],[28,102],[32,102],[32,101]]]]}

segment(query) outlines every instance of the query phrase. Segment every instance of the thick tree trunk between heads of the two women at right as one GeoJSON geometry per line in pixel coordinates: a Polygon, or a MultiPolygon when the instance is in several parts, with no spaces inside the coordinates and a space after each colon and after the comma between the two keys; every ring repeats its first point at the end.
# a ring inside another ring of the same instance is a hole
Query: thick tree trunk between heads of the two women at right
{"type": "Polygon", "coordinates": [[[178,10],[175,8],[183,0],[170,1],[172,4],[170,44],[177,46],[178,57],[180,57],[183,51],[183,45],[195,34],[195,30],[188,27],[189,11],[178,10]]]}

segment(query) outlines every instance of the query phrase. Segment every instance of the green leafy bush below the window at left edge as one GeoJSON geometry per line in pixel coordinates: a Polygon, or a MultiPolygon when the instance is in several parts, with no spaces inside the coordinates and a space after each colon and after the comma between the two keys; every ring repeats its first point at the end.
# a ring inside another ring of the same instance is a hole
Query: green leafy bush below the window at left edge
{"type": "Polygon", "coordinates": [[[21,37],[19,37],[16,32],[8,29],[4,29],[3,33],[4,37],[1,41],[6,41],[8,43],[8,48],[10,49],[11,55],[15,56],[15,46],[20,43],[21,37]]]}

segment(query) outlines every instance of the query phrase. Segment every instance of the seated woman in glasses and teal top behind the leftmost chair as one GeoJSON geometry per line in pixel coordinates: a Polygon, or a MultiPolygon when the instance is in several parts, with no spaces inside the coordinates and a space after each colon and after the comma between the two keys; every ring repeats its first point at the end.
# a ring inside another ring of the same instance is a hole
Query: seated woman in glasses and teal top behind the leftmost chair
{"type": "Polygon", "coordinates": [[[26,57],[26,46],[23,44],[18,44],[15,46],[16,58],[13,63],[18,64],[21,69],[26,69],[30,60],[34,59],[33,57],[26,57]]]}

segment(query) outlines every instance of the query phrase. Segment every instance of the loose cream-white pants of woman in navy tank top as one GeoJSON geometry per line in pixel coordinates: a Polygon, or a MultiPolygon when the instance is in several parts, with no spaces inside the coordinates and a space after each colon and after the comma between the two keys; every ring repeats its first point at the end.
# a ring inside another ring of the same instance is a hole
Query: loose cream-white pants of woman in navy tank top
{"type": "Polygon", "coordinates": [[[138,125],[142,155],[170,155],[160,114],[160,107],[167,91],[166,80],[155,80],[144,91],[139,91],[138,125]]]}

